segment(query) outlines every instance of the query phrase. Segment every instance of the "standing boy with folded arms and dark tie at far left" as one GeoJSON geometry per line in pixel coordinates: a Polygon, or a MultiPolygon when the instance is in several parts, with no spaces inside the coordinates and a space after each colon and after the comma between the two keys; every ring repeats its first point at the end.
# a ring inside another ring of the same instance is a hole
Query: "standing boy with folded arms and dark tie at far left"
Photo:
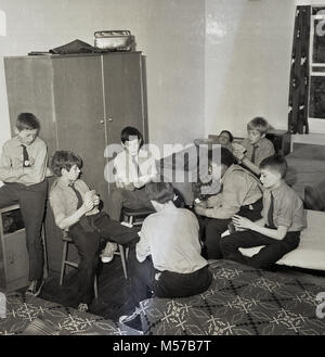
{"type": "Polygon", "coordinates": [[[31,113],[21,113],[16,136],[2,148],[0,160],[0,207],[20,203],[26,230],[29,255],[27,294],[37,296],[43,284],[43,251],[41,225],[44,215],[48,181],[46,180],[48,150],[38,138],[40,124],[31,113]]]}

